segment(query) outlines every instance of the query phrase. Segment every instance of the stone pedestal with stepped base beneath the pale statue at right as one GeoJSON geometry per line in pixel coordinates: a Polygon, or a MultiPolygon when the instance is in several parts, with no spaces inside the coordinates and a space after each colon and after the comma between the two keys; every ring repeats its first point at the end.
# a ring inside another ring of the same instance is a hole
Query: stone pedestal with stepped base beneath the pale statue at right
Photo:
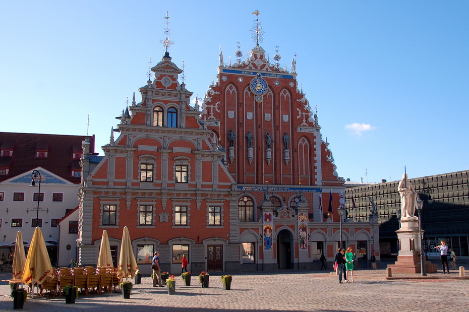
{"type": "MultiPolygon", "coordinates": [[[[399,255],[397,261],[388,265],[388,267],[396,273],[421,273],[419,218],[402,218],[400,224],[400,229],[396,231],[399,239],[399,255]]],[[[422,231],[422,235],[424,232],[422,231]]],[[[432,265],[430,261],[424,263],[427,273],[437,271],[437,265],[432,265]]]]}

